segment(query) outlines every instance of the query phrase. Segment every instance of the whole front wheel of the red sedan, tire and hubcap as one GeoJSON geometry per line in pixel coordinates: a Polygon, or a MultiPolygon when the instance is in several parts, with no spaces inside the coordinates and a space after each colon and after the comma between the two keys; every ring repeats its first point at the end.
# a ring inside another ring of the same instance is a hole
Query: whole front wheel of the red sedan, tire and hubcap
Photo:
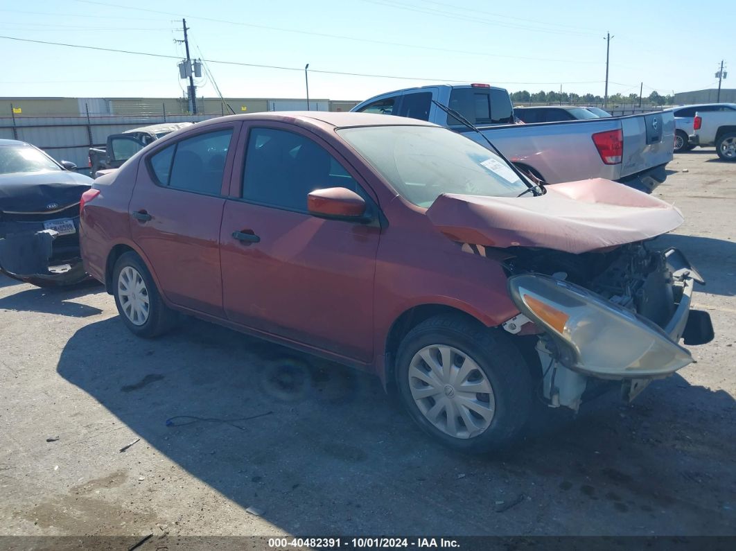
{"type": "Polygon", "coordinates": [[[436,316],[402,341],[400,396],[417,424],[468,452],[498,449],[520,436],[531,414],[529,370],[510,338],[464,316],[436,316]]]}

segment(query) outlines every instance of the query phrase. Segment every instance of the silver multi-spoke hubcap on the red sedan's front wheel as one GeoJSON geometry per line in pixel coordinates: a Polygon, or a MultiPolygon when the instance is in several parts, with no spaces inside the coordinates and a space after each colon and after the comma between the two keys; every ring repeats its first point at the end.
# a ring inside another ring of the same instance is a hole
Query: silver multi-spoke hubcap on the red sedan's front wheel
{"type": "Polygon", "coordinates": [[[454,438],[473,438],[493,420],[495,397],[488,378],[459,349],[425,346],[411,358],[409,388],[431,424],[454,438]]]}

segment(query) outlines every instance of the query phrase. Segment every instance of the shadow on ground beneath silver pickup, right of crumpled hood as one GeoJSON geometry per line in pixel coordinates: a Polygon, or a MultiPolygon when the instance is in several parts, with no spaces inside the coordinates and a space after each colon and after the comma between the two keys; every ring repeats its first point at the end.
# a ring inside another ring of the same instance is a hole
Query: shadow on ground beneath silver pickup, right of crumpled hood
{"type": "Polygon", "coordinates": [[[736,243],[725,239],[668,233],[651,241],[651,247],[680,249],[703,276],[706,285],[696,291],[736,295],[736,243]]]}

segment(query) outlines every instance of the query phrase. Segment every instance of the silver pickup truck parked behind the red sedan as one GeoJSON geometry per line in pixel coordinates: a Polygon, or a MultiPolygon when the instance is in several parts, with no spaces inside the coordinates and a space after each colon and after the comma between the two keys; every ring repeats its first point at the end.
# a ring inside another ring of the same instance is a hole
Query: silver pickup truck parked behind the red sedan
{"type": "Polygon", "coordinates": [[[367,99],[353,111],[419,118],[486,145],[482,136],[433,100],[467,118],[521,170],[551,184],[605,178],[651,193],[665,181],[665,166],[673,157],[671,112],[516,124],[508,91],[486,84],[394,90],[367,99]]]}

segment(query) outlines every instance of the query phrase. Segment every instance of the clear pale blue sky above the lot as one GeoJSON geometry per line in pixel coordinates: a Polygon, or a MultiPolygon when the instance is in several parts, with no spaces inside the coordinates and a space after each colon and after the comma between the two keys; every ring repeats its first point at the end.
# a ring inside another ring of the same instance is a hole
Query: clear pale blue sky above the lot
{"type": "MultiPolygon", "coordinates": [[[[1,0],[0,35],[183,57],[182,17],[193,57],[411,78],[310,72],[313,98],[365,99],[423,79],[603,95],[606,32],[609,93],[711,88],[721,57],[736,71],[736,4],[708,1],[1,0]]],[[[0,51],[0,96],[171,97],[185,85],[174,59],[4,39],[0,51]]],[[[304,96],[303,71],[210,70],[224,96],[304,96]]],[[[729,77],[724,88],[736,88],[729,77]]],[[[216,95],[198,80],[200,95],[216,95]]]]}

